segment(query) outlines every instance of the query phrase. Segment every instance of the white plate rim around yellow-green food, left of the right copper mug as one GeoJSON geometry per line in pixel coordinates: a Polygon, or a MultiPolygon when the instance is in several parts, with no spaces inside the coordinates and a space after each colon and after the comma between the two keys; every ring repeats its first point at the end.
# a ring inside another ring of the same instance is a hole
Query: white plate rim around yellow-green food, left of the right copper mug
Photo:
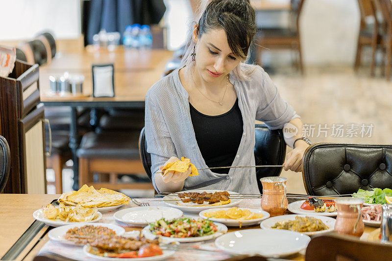
{"type": "MultiPolygon", "coordinates": [[[[312,236],[312,235],[319,235],[327,232],[331,232],[335,229],[335,223],[336,219],[329,217],[329,216],[317,216],[317,215],[278,215],[274,217],[270,217],[266,220],[263,220],[260,223],[260,227],[262,229],[271,229],[273,225],[275,225],[276,222],[283,221],[283,220],[294,220],[296,216],[311,216],[317,219],[320,219],[329,229],[326,230],[321,230],[321,231],[315,231],[315,232],[301,232],[302,234],[312,236]]],[[[282,230],[282,229],[275,229],[275,230],[282,230]]]]}

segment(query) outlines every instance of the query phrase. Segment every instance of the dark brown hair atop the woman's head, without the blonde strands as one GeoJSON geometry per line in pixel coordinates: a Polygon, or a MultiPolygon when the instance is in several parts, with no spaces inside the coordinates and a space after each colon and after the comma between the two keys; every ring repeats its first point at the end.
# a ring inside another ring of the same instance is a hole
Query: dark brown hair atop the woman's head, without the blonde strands
{"type": "Polygon", "coordinates": [[[255,13],[249,0],[212,0],[197,23],[197,37],[217,28],[226,32],[233,54],[245,60],[256,34],[255,13]]]}

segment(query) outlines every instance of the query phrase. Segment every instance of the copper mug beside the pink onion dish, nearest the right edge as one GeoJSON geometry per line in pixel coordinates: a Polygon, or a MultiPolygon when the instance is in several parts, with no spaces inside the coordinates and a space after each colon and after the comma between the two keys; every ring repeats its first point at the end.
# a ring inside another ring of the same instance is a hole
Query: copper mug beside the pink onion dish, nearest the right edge
{"type": "Polygon", "coordinates": [[[365,229],[361,211],[364,200],[360,198],[341,198],[336,200],[336,205],[338,216],[336,217],[335,231],[339,234],[361,237],[365,229]]]}

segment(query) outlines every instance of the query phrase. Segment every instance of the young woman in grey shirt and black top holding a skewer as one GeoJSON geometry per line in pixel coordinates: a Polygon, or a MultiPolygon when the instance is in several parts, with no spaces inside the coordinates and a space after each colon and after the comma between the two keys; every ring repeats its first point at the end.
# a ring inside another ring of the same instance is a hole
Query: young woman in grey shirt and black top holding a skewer
{"type": "Polygon", "coordinates": [[[147,151],[157,191],[260,193],[251,167],[200,170],[193,177],[188,177],[190,169],[164,177],[159,171],[181,157],[191,159],[197,168],[255,165],[255,119],[270,129],[287,122],[298,129],[284,169],[300,171],[308,144],[300,139],[299,116],[261,67],[244,63],[255,33],[249,0],[210,1],[194,26],[181,66],[148,91],[147,151]]]}

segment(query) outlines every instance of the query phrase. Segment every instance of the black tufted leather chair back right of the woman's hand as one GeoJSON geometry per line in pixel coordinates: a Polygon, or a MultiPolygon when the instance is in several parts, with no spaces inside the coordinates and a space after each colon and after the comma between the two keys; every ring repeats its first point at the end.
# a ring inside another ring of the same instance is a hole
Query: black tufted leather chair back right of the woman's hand
{"type": "Polygon", "coordinates": [[[302,159],[310,195],[350,194],[392,188],[392,145],[316,143],[302,159]]]}

